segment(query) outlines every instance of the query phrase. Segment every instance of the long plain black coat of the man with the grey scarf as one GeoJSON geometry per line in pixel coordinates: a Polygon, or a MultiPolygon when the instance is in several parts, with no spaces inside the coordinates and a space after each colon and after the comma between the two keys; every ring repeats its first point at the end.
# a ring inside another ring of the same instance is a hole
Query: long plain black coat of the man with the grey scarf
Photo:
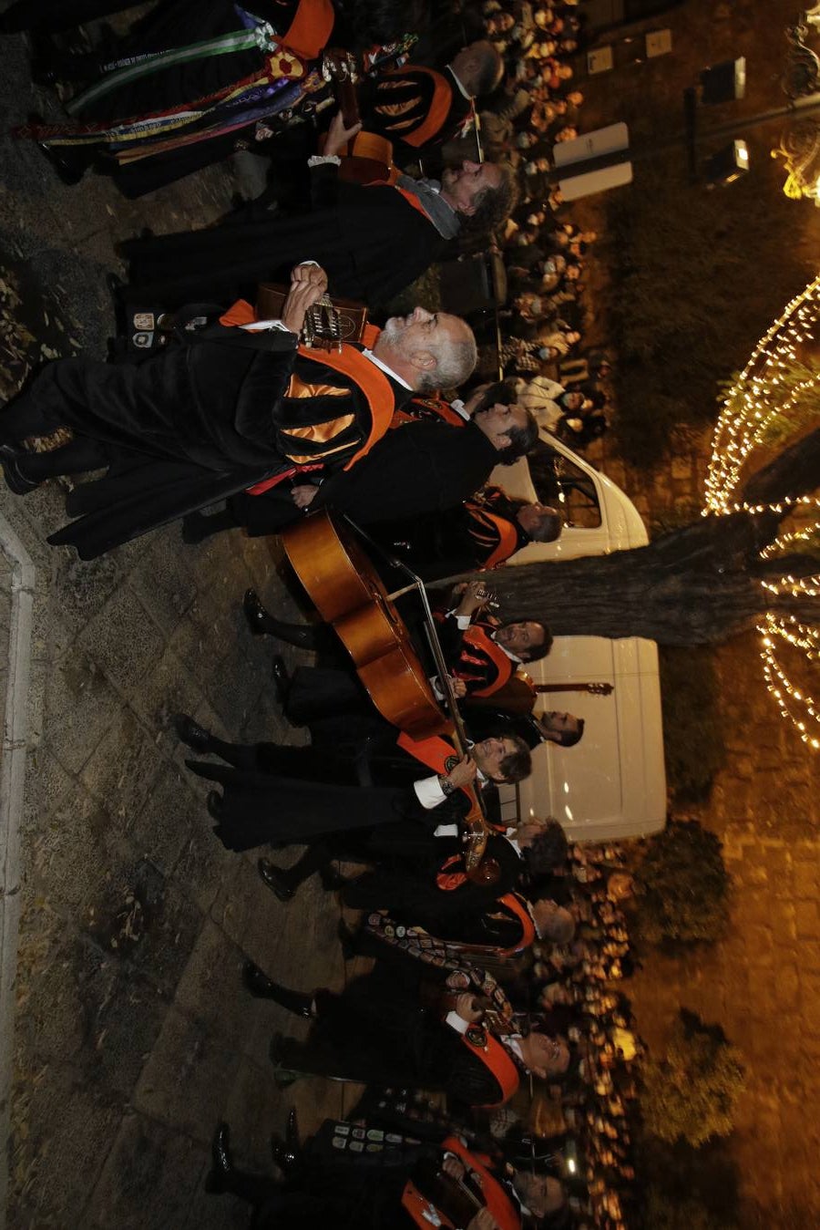
{"type": "Polygon", "coordinates": [[[317,261],[331,294],[373,310],[436,261],[445,241],[427,215],[387,184],[344,183],[322,164],[311,177],[311,208],[283,218],[261,207],[205,230],[130,240],[129,310],[171,310],[204,299],[256,298],[259,282],[288,278],[317,261]],[[171,271],[171,273],[168,272],[171,271]]]}

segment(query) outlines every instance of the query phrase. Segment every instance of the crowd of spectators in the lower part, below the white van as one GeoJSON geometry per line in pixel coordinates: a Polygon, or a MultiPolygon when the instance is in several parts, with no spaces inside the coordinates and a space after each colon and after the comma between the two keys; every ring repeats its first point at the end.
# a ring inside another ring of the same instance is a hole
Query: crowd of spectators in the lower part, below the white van
{"type": "Polygon", "coordinates": [[[505,1108],[493,1133],[510,1160],[532,1150],[570,1192],[567,1225],[625,1230],[633,1224],[638,1065],[644,1053],[623,979],[634,968],[623,902],[632,878],[617,846],[570,845],[538,894],[568,909],[575,934],[566,945],[536,942],[532,964],[508,988],[531,1018],[566,1034],[580,1055],[574,1077],[551,1086],[529,1119],[505,1108]],[[535,1129],[535,1130],[534,1130],[535,1129]],[[532,1133],[532,1135],[531,1135],[532,1133]]]}

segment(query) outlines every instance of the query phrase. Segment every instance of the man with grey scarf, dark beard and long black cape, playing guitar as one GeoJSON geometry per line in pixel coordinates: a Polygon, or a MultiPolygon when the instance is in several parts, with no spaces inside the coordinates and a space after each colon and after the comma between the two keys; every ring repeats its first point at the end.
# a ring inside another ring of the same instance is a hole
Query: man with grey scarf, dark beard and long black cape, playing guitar
{"type": "Polygon", "coordinates": [[[511,172],[495,162],[450,167],[440,184],[409,176],[395,186],[345,182],[338,155],[358,130],[334,118],[326,154],[311,160],[310,202],[296,216],[252,203],[219,226],[123,244],[127,320],[208,298],[253,299],[257,283],[275,282],[285,266],[309,260],[327,271],[332,295],[374,311],[438,261],[465,220],[491,230],[509,213],[511,172]]]}

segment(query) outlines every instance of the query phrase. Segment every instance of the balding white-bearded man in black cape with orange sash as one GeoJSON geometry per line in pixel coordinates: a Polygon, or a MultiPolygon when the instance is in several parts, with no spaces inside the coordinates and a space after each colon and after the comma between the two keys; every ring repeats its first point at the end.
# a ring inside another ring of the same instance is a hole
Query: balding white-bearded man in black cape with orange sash
{"type": "Polygon", "coordinates": [[[214,326],[139,365],[45,367],[0,417],[6,482],[23,494],[54,475],[109,466],[68,501],[89,520],[49,541],[73,542],[89,558],[299,466],[354,465],[414,385],[472,370],[463,321],[420,308],[388,321],[373,352],[345,347],[326,360],[299,352],[296,331],[326,284],[318,267],[298,266],[282,328],[214,326]],[[75,433],[59,449],[20,444],[59,427],[75,433]]]}

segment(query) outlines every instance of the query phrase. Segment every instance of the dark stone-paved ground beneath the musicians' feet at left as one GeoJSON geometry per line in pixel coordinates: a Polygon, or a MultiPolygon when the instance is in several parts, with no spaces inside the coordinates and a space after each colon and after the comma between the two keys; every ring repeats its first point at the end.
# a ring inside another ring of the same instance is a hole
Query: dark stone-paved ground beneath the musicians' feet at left
{"type": "MultiPolygon", "coordinates": [[[[4,113],[48,111],[22,42],[2,53],[4,113]]],[[[146,224],[203,225],[236,181],[216,169],[128,203],[101,177],[61,186],[33,145],[4,137],[1,156],[5,400],[49,354],[75,343],[104,354],[103,276],[119,268],[118,240],[146,224]]],[[[269,1133],[291,1102],[309,1129],[350,1092],[277,1090],[272,1031],[300,1026],[241,990],[241,963],[339,985],[338,907],[306,889],[286,909],[254,857],[223,851],[168,716],[184,710],[227,738],[299,740],[272,700],[272,648],[246,631],[240,601],[253,584],[275,609],[296,609],[267,544],[239,531],[184,547],[170,526],[92,563],[50,549],[64,494],[54,482],[25,499],[0,492],[0,643],[11,651],[27,640],[10,592],[15,536],[36,568],[27,739],[12,747],[7,721],[4,743],[7,764],[26,755],[20,861],[12,814],[2,898],[6,956],[21,915],[7,1224],[246,1225],[246,1205],[204,1194],[216,1121],[230,1121],[241,1161],[270,1171],[269,1133]]],[[[22,659],[11,658],[14,675],[22,659]]],[[[14,969],[1,975],[9,991],[14,969]]]]}

